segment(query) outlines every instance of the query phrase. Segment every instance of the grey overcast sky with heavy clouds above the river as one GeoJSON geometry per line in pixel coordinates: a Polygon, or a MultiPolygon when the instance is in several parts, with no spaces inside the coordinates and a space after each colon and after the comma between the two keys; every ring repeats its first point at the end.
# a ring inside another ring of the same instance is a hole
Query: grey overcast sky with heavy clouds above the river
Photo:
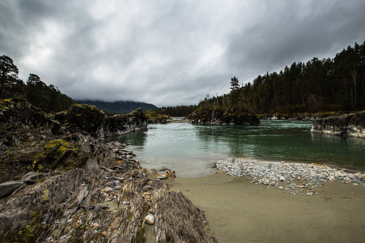
{"type": "Polygon", "coordinates": [[[0,0],[0,55],[73,99],[197,104],[365,40],[365,1],[0,0]]]}

